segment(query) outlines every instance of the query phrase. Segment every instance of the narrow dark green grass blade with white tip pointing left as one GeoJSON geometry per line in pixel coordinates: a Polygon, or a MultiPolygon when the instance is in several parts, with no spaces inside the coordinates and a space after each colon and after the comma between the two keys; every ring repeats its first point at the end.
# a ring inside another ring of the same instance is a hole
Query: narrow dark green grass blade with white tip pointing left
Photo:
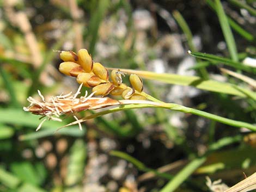
{"type": "Polygon", "coordinates": [[[201,59],[205,59],[205,60],[209,60],[212,62],[212,64],[224,64],[227,66],[231,66],[234,67],[237,70],[243,70],[246,72],[251,72],[251,73],[256,73],[256,69],[252,68],[252,67],[248,67],[246,65],[243,65],[242,63],[224,58],[224,57],[219,57],[216,55],[212,55],[212,54],[208,54],[208,53],[200,53],[200,52],[188,52],[189,54],[193,55],[194,57],[197,58],[201,58],[201,59]]]}

